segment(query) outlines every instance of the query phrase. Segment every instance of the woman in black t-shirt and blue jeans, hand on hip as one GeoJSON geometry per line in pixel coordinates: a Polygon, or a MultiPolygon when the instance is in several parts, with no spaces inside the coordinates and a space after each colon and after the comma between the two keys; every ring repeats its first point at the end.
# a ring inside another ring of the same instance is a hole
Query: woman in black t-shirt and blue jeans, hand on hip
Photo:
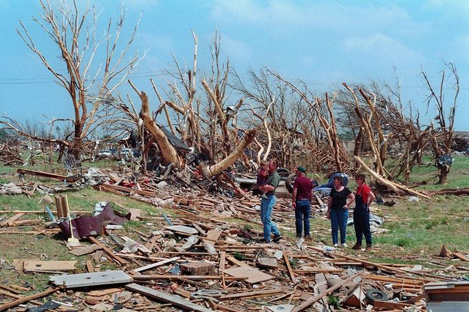
{"type": "Polygon", "coordinates": [[[331,219],[331,234],[334,247],[338,247],[337,230],[340,229],[340,245],[347,247],[345,243],[347,235],[347,219],[349,218],[349,205],[355,201],[353,193],[342,185],[340,176],[334,177],[334,188],[329,194],[327,203],[327,219],[331,219]],[[348,200],[348,201],[347,201],[348,200]]]}

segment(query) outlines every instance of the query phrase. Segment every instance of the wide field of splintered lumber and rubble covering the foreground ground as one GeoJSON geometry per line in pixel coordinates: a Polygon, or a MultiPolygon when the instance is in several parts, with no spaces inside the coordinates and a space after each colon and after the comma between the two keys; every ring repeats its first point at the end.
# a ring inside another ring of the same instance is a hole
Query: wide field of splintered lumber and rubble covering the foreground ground
{"type": "MultiPolygon", "coordinates": [[[[10,264],[4,261],[2,269],[44,274],[52,287],[23,296],[31,290],[28,285],[2,283],[0,311],[336,311],[338,307],[346,311],[425,311],[426,288],[445,287],[447,282],[459,285],[455,281],[469,271],[463,265],[428,263],[437,269],[426,269],[425,263],[413,267],[373,263],[360,255],[349,256],[345,249],[312,241],[261,243],[262,231],[256,227],[262,223],[255,208],[260,199],[224,179],[214,185],[213,181],[195,183],[182,174],[149,178],[89,170],[81,177],[64,178],[31,170],[22,173],[70,181],[17,187],[28,194],[44,192],[49,203],[54,202],[49,194],[55,194],[57,210],[50,211],[50,216],[55,219],[57,215],[58,220],[48,225],[56,223],[60,230],[44,227],[41,234],[64,232],[66,237],[73,233],[72,237],[80,238],[79,246],[69,246],[69,253],[84,257],[80,258],[84,259],[80,260],[83,269],[76,269],[77,260],[47,261],[41,255],[10,264]],[[97,203],[95,216],[72,211],[81,216],[67,219],[61,212],[60,192],[81,188],[84,180],[103,192],[171,208],[175,216],[148,215],[122,205],[118,208],[127,214],[119,216],[111,205],[97,203]],[[142,227],[119,234],[127,219],[142,227]],[[116,269],[103,270],[110,262],[116,269]],[[428,284],[432,282],[438,284],[428,284]],[[47,302],[37,301],[44,297],[47,302]]],[[[314,214],[323,218],[324,203],[320,197],[316,201],[314,214]]],[[[285,233],[294,232],[289,204],[290,200],[279,199],[272,215],[285,233]]],[[[37,213],[8,211],[12,216],[6,217],[5,212],[0,227],[29,224],[21,217],[37,213]]],[[[6,232],[3,229],[0,234],[6,232]]],[[[318,232],[329,232],[329,227],[316,227],[314,233],[318,232]]],[[[441,257],[469,261],[465,254],[447,249],[441,257]]]]}

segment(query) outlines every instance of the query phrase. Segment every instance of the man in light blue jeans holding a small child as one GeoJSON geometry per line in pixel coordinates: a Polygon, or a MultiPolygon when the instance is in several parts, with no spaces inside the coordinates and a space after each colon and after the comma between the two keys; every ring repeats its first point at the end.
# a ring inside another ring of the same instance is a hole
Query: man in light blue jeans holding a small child
{"type": "Polygon", "coordinates": [[[264,225],[263,241],[265,241],[265,243],[270,243],[271,233],[274,234],[274,242],[278,242],[282,238],[279,229],[275,223],[272,222],[272,219],[270,219],[276,202],[274,192],[280,183],[280,175],[276,172],[278,165],[279,163],[276,159],[270,159],[268,183],[265,186],[259,187],[259,189],[265,193],[265,197],[261,199],[261,221],[264,225]]]}

